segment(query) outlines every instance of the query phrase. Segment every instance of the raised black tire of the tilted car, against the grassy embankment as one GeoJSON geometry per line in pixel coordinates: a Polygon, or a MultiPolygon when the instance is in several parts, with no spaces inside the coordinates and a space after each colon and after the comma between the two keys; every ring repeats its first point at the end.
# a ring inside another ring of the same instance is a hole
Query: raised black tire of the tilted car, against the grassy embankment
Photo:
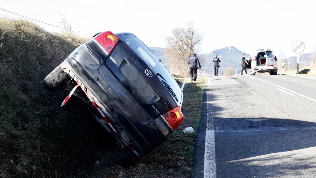
{"type": "Polygon", "coordinates": [[[61,65],[57,66],[51,73],[49,73],[43,81],[44,86],[50,92],[58,90],[67,78],[67,73],[65,73],[60,66],[61,65]]]}

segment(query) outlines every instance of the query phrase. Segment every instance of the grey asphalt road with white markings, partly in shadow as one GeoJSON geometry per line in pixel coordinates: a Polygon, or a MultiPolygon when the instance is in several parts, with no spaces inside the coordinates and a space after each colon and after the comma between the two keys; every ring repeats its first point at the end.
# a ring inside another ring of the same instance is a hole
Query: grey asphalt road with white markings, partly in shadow
{"type": "Polygon", "coordinates": [[[316,177],[316,78],[209,77],[195,177],[316,177]]]}

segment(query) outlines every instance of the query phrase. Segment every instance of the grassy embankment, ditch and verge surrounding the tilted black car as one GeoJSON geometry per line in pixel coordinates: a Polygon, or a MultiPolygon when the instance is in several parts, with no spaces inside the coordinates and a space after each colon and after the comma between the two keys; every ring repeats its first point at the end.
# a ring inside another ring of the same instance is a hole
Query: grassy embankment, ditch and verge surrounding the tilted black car
{"type": "Polygon", "coordinates": [[[49,93],[41,84],[87,40],[0,18],[0,177],[190,176],[196,132],[182,129],[197,128],[204,78],[185,86],[185,119],[169,141],[136,166],[122,168],[114,161],[115,141],[76,99],[60,108],[66,94],[49,93]]]}

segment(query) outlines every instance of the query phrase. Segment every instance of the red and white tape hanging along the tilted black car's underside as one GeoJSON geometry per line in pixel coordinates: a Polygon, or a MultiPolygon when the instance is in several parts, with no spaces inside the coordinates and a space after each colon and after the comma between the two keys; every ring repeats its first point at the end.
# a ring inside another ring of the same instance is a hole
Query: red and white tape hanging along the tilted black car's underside
{"type": "MultiPolygon", "coordinates": [[[[74,80],[77,82],[78,85],[76,85],[71,92],[69,93],[69,95],[64,99],[63,103],[60,106],[64,106],[67,101],[70,99],[71,95],[75,92],[75,90],[78,88],[78,86],[80,86],[80,88],[83,90],[84,93],[86,93],[87,97],[90,99],[91,103],[94,105],[94,107],[100,112],[101,116],[103,117],[103,119],[106,121],[106,123],[112,128],[112,130],[114,131],[114,133],[126,144],[126,146],[131,149],[137,156],[139,156],[137,154],[137,152],[131,147],[131,145],[129,145],[128,143],[126,143],[119,135],[119,133],[114,129],[114,127],[112,126],[112,124],[110,123],[110,121],[106,118],[105,114],[103,113],[103,111],[100,109],[100,107],[95,103],[93,97],[85,90],[85,87],[82,86],[82,82],[79,81],[78,78],[76,78],[76,76],[74,77],[74,80]]],[[[141,159],[144,159],[144,157],[141,157],[141,159]]]]}

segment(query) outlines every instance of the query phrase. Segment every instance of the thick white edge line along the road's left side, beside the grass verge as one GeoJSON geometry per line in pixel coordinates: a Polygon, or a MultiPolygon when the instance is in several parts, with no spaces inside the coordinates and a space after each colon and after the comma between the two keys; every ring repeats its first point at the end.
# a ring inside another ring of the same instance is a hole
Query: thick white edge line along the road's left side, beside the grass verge
{"type": "MultiPolygon", "coordinates": [[[[208,78],[208,89],[212,86],[210,78],[208,78]]],[[[209,90],[208,90],[209,91],[209,90]]],[[[205,150],[204,150],[204,178],[216,177],[215,162],[215,135],[214,135],[214,118],[211,115],[209,93],[206,95],[207,100],[207,117],[205,131],[205,150]]]]}

